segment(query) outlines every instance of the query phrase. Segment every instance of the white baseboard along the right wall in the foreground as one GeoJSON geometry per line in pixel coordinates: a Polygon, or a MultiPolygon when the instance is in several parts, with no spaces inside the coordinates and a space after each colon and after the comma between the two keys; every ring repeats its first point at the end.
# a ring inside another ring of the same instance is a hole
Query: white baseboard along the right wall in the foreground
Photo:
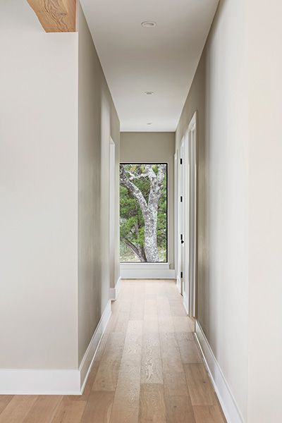
{"type": "Polygon", "coordinates": [[[212,348],[207,341],[204,331],[200,326],[199,322],[196,321],[196,333],[195,338],[197,343],[200,345],[202,355],[204,357],[204,363],[206,364],[209,375],[214,385],[214,391],[219,398],[219,403],[226,417],[228,423],[244,423],[243,417],[238,409],[238,405],[233,397],[231,389],[219,367],[219,363],[214,357],[212,348]]]}

